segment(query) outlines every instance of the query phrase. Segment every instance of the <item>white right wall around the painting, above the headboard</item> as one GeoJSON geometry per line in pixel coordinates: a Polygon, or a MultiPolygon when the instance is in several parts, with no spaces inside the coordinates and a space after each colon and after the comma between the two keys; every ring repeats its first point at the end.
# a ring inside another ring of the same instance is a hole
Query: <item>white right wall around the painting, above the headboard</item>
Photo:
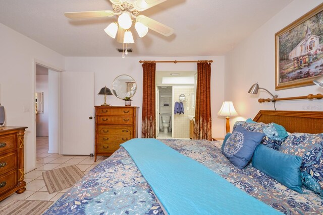
{"type": "MultiPolygon", "coordinates": [[[[248,94],[249,88],[256,82],[259,87],[279,95],[280,98],[323,93],[323,89],[316,85],[275,91],[275,33],[322,2],[322,0],[293,1],[226,55],[225,98],[233,101],[241,117],[253,118],[259,110],[274,110],[272,103],[257,101],[259,98],[270,98],[267,92],[259,90],[258,95],[248,94]]],[[[322,100],[278,101],[276,108],[323,111],[323,104],[322,100]]],[[[231,127],[241,117],[231,119],[231,127]]]]}

